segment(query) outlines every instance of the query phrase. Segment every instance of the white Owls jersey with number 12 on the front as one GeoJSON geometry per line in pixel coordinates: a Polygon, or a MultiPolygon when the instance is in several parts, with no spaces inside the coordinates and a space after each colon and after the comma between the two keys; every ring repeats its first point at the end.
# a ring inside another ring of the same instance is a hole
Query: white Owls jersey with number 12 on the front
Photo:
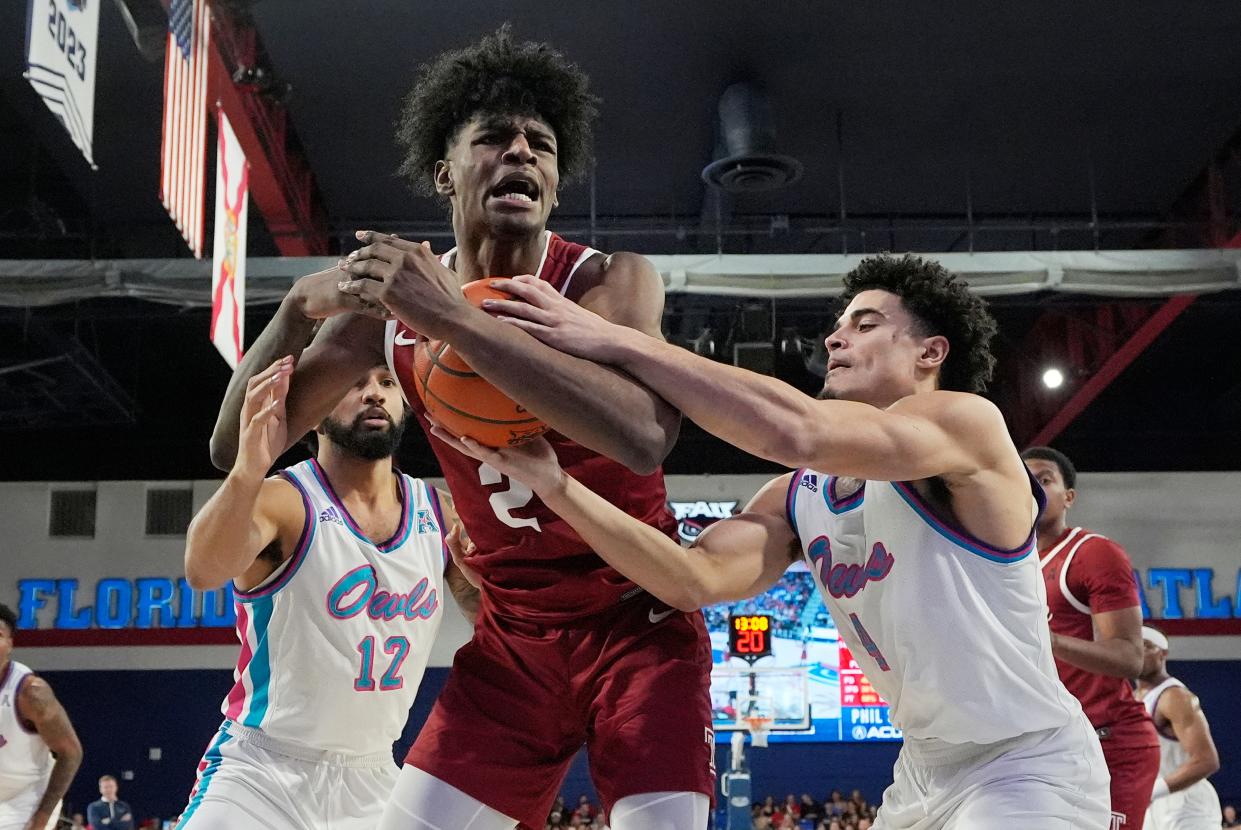
{"type": "Polygon", "coordinates": [[[448,548],[436,491],[397,474],[401,524],[367,540],[314,459],[280,471],[307,520],[293,556],[237,591],[241,655],[221,711],[313,749],[391,751],[443,618],[448,548]]]}

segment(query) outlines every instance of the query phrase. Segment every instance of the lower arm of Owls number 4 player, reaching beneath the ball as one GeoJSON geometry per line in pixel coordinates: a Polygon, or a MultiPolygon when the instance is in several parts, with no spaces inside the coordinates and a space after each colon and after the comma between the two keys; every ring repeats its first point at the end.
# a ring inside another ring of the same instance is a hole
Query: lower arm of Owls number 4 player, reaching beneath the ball
{"type": "Polygon", "coordinates": [[[711,525],[690,548],[629,516],[565,473],[547,442],[493,450],[438,427],[463,453],[526,484],[604,562],[683,610],[762,593],[799,555],[784,515],[788,475],[768,483],[745,511],[711,525]]]}

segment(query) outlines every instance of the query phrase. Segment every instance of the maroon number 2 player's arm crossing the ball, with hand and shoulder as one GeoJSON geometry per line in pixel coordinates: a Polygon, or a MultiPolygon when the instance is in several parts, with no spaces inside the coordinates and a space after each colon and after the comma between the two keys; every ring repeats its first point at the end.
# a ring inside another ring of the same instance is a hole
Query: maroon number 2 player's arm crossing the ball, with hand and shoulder
{"type": "MultiPolygon", "coordinates": [[[[474,371],[583,447],[635,473],[663,463],[676,443],[680,413],[658,395],[623,372],[550,349],[469,305],[457,275],[426,244],[372,231],[357,236],[366,247],[344,266],[356,277],[346,292],[381,303],[428,337],[447,340],[474,371]]],[[[661,337],[663,282],[643,257],[608,257],[581,303],[645,339],[661,337]]]]}

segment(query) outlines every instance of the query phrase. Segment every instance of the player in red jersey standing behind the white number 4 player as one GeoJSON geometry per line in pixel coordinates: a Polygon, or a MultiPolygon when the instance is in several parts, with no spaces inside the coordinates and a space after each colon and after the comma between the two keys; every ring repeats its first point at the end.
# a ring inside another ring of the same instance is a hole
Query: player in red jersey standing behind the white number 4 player
{"type": "Polygon", "coordinates": [[[1142,672],[1142,604],[1133,564],[1106,536],[1069,526],[1077,470],[1064,453],[1033,447],[1021,458],[1047,495],[1039,561],[1056,669],[1098,732],[1112,773],[1113,826],[1140,830],[1159,773],[1159,738],[1129,684],[1142,672]]]}

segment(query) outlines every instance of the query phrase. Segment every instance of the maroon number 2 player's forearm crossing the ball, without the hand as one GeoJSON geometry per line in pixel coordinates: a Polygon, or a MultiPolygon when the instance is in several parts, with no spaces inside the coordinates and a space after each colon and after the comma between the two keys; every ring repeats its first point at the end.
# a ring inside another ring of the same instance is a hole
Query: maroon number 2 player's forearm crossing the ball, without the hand
{"type": "Polygon", "coordinates": [[[473,309],[446,339],[474,371],[552,429],[635,473],[654,471],[676,443],[676,409],[629,376],[473,309]]]}

